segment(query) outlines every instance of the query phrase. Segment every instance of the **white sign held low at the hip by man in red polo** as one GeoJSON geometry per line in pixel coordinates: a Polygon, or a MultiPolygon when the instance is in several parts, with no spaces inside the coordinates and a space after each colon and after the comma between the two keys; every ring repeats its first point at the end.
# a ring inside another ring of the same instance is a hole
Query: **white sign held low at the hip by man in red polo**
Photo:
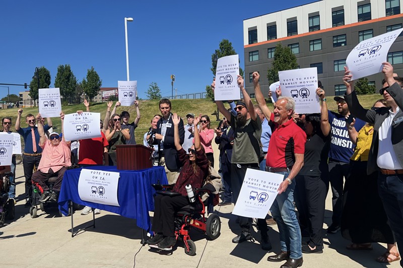
{"type": "Polygon", "coordinates": [[[284,175],[281,174],[246,169],[241,191],[232,214],[264,219],[276,199],[277,189],[283,179],[284,175]]]}

